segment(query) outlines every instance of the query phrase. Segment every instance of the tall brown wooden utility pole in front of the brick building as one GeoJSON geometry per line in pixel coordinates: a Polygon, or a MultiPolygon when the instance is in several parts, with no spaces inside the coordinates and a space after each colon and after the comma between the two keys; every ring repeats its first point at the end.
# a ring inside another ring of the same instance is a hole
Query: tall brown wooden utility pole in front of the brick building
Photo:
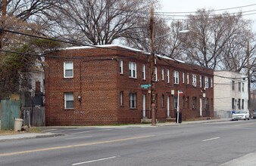
{"type": "Polygon", "coordinates": [[[151,71],[151,125],[155,126],[155,54],[154,54],[154,6],[150,10],[150,71],[151,71]]]}

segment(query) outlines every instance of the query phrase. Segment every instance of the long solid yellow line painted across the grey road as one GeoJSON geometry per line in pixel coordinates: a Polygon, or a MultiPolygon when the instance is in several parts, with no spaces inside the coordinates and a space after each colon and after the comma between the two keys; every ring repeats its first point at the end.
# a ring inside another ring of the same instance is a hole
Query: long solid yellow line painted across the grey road
{"type": "Polygon", "coordinates": [[[105,140],[105,141],[92,142],[92,143],[81,143],[81,144],[70,145],[70,146],[55,146],[52,148],[25,150],[25,151],[20,151],[20,152],[0,153],[0,156],[21,155],[21,154],[32,153],[32,152],[45,152],[45,151],[58,150],[58,149],[70,149],[70,148],[76,148],[76,147],[82,147],[82,146],[98,145],[98,144],[103,144],[103,143],[116,143],[116,142],[121,142],[121,141],[126,141],[126,140],[137,140],[137,139],[148,138],[148,137],[155,137],[155,135],[148,135],[148,136],[141,136],[141,137],[128,137],[128,138],[123,138],[123,139],[105,140]]]}

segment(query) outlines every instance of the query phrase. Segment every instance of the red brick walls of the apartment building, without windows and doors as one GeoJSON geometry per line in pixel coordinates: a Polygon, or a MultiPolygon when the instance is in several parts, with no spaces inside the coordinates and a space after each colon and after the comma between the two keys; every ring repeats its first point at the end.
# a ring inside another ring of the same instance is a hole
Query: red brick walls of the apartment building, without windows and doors
{"type": "MultiPolygon", "coordinates": [[[[118,48],[123,49],[123,48],[118,48]]],[[[150,109],[151,94],[140,85],[150,84],[148,55],[131,51],[116,51],[107,49],[80,49],[64,50],[52,55],[66,57],[86,57],[87,60],[72,60],[74,77],[64,78],[64,59],[48,58],[45,70],[45,103],[47,125],[87,125],[87,124],[116,124],[139,123],[142,118],[142,94],[146,95],[146,110],[150,109]],[[114,58],[105,59],[102,58],[114,58]],[[92,58],[93,60],[88,60],[92,58]],[[96,60],[95,60],[96,59],[96,60]],[[119,60],[123,60],[123,74],[119,73],[119,60]],[[137,78],[129,78],[129,61],[136,63],[137,78]],[[146,65],[146,79],[142,80],[142,65],[146,65]],[[123,91],[123,106],[120,106],[120,91],[123,91]],[[64,109],[64,92],[73,92],[74,109],[64,109]],[[130,109],[129,94],[136,93],[136,109],[130,109]],[[78,96],[82,100],[78,100],[78,96]]],[[[210,115],[213,116],[214,98],[213,88],[198,88],[199,75],[208,75],[213,78],[213,70],[204,69],[173,60],[158,60],[158,94],[157,118],[165,121],[167,118],[167,96],[170,96],[170,115],[175,116],[173,97],[177,91],[183,91],[189,97],[189,109],[180,106],[183,120],[199,117],[199,98],[205,93],[209,98],[210,115]],[[164,81],[161,80],[161,68],[164,68],[164,81]],[[167,83],[167,69],[170,69],[170,83],[167,83]],[[179,71],[180,84],[173,85],[173,70],[179,71]],[[182,72],[189,72],[189,85],[182,82],[182,72]],[[198,86],[192,87],[192,74],[197,75],[198,86]],[[171,90],[175,94],[171,94],[171,90]],[[164,95],[164,106],[161,106],[161,97],[164,95]],[[192,97],[197,97],[196,109],[192,109],[192,97]]],[[[182,98],[182,97],[180,97],[182,98]]],[[[202,97],[203,98],[203,97],[202,97]]],[[[204,100],[204,98],[203,98],[204,100]]],[[[180,99],[181,103],[181,99],[180,99]]],[[[181,104],[180,104],[181,105],[181,104]]],[[[204,107],[204,102],[203,102],[204,107]]],[[[203,109],[204,113],[204,109],[203,109]]],[[[204,113],[205,114],[205,113],[204,113]]]]}

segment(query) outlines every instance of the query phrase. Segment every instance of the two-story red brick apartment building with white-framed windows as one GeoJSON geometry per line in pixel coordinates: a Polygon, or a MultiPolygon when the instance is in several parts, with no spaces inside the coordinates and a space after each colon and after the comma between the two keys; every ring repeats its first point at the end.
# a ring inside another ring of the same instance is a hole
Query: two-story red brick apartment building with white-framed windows
{"type": "MultiPolygon", "coordinates": [[[[139,123],[151,118],[148,54],[120,45],[76,47],[45,58],[46,125],[139,123]]],[[[214,71],[158,57],[156,118],[174,118],[177,91],[183,120],[214,116],[214,71]]]]}

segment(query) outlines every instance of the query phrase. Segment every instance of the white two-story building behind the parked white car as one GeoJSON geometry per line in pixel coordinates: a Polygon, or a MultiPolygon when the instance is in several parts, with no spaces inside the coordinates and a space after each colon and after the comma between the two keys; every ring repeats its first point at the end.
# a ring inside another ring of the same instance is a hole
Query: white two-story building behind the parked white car
{"type": "Polygon", "coordinates": [[[248,111],[248,78],[238,72],[214,72],[214,116],[230,118],[235,110],[248,111]]]}

